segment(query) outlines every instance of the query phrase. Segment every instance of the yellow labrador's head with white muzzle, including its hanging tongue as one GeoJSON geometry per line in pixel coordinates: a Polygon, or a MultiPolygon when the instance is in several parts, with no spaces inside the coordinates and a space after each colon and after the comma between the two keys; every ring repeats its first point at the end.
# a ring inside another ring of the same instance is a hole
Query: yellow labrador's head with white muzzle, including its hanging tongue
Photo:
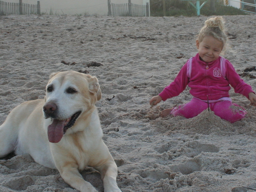
{"type": "Polygon", "coordinates": [[[98,79],[76,71],[53,73],[46,86],[44,117],[52,118],[48,139],[57,143],[76,120],[100,100],[98,79]]]}

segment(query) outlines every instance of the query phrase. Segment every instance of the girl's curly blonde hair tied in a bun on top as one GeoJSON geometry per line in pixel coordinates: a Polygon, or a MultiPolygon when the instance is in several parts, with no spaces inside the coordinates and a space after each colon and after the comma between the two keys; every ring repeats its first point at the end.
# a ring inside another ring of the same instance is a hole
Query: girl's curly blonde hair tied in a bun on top
{"type": "Polygon", "coordinates": [[[228,37],[224,28],[224,20],[222,17],[209,18],[204,22],[204,27],[201,28],[197,39],[199,42],[203,41],[205,36],[213,36],[222,42],[223,51],[227,48],[228,37]]]}

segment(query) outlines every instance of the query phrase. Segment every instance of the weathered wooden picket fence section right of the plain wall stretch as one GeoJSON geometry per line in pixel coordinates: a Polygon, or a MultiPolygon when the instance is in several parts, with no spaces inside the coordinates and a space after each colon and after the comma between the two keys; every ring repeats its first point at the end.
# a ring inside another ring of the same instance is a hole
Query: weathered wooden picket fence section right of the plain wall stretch
{"type": "Polygon", "coordinates": [[[108,15],[149,17],[149,4],[137,5],[130,3],[113,4],[108,0],[108,15]]]}

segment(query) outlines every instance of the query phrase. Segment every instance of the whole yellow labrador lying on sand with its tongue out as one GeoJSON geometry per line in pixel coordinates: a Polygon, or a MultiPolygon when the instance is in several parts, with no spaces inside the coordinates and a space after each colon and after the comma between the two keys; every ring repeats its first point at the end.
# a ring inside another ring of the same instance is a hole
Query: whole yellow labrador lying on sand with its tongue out
{"type": "Polygon", "coordinates": [[[117,166],[102,140],[95,103],[101,98],[96,77],[66,71],[50,76],[44,99],[27,101],[0,126],[0,157],[15,150],[30,154],[81,192],[97,190],[79,170],[92,166],[100,171],[105,192],[121,192],[117,166]]]}

